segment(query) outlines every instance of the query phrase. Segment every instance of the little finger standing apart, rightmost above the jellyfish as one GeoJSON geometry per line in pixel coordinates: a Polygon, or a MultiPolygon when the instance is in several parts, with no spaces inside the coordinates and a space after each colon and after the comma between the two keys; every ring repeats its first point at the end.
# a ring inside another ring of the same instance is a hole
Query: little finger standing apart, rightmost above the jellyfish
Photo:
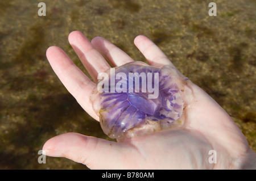
{"type": "Polygon", "coordinates": [[[162,50],[156,46],[146,36],[139,35],[134,39],[134,44],[142,52],[150,65],[161,67],[164,65],[173,66],[172,62],[162,52],[162,50]]]}

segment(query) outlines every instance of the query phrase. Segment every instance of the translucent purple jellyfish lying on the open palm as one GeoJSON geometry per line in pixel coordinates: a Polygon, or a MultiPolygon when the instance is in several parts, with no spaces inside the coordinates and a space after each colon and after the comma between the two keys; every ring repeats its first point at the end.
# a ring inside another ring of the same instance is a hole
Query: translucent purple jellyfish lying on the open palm
{"type": "Polygon", "coordinates": [[[150,134],[183,124],[183,100],[172,69],[130,62],[99,74],[90,99],[110,138],[150,134]]]}

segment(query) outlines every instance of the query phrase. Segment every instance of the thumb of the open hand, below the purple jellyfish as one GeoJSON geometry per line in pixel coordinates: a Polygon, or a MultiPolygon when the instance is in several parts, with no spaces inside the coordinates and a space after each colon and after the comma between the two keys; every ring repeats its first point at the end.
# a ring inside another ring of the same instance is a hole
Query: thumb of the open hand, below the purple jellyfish
{"type": "Polygon", "coordinates": [[[49,139],[43,146],[46,155],[65,157],[90,169],[122,169],[127,146],[79,133],[65,133],[49,139]]]}

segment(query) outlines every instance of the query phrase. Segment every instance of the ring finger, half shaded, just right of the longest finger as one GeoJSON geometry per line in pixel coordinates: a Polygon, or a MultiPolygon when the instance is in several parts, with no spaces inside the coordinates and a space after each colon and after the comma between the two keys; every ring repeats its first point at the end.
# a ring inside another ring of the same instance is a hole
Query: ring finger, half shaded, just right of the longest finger
{"type": "Polygon", "coordinates": [[[92,44],[93,47],[104,55],[113,66],[121,66],[134,61],[133,58],[123,52],[123,50],[119,49],[103,37],[94,37],[94,39],[92,39],[92,44]]]}

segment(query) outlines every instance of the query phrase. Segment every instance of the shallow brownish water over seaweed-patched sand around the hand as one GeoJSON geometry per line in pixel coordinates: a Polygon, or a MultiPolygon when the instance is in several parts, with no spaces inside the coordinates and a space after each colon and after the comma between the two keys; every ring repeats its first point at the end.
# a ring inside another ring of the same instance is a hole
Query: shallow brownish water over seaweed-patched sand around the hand
{"type": "MultiPolygon", "coordinates": [[[[102,36],[135,60],[137,35],[153,40],[174,65],[236,121],[256,151],[255,1],[0,1],[0,169],[86,169],[65,158],[38,163],[38,150],[57,134],[107,138],[79,106],[46,59],[57,45],[77,66],[68,44],[73,30],[102,36]]],[[[82,69],[85,73],[86,71],[82,69]]]]}

